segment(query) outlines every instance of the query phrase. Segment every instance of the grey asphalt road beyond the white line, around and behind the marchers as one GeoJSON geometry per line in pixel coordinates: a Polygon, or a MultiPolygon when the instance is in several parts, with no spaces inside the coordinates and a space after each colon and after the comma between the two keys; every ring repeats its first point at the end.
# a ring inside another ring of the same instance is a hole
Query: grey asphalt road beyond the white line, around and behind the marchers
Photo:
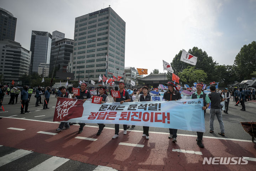
{"type": "MultiPolygon", "coordinates": [[[[112,101],[112,97],[109,97],[110,101],[112,101]]],[[[0,116],[6,116],[6,117],[14,117],[14,118],[26,118],[26,119],[33,119],[33,120],[42,120],[42,121],[53,121],[53,115],[54,115],[54,109],[57,102],[57,99],[55,98],[55,95],[50,96],[48,107],[50,109],[43,110],[42,104],[39,107],[35,107],[36,98],[34,98],[34,94],[31,96],[31,101],[28,106],[28,110],[30,113],[26,114],[20,114],[20,108],[21,103],[19,103],[20,97],[18,97],[17,104],[10,105],[8,104],[10,100],[10,96],[5,95],[3,106],[5,109],[5,112],[0,110],[0,116]]],[[[242,112],[241,106],[234,106],[235,102],[233,100],[230,100],[229,103],[229,110],[228,114],[223,113],[223,122],[225,127],[225,138],[233,138],[233,139],[244,139],[244,140],[251,140],[251,136],[244,131],[241,124],[239,124],[240,121],[255,121],[256,118],[256,103],[255,102],[245,102],[246,106],[246,112],[242,112]]],[[[87,124],[92,126],[97,126],[97,124],[87,124]]],[[[209,133],[209,110],[206,112],[205,117],[205,126],[206,126],[206,132],[204,133],[204,136],[209,137],[222,137],[218,135],[218,132],[220,132],[219,123],[217,118],[215,117],[214,120],[214,133],[209,133]]],[[[112,124],[106,124],[106,127],[112,127],[114,128],[114,125],[112,124]]],[[[122,128],[122,126],[120,127],[122,128]]],[[[57,128],[56,128],[57,129],[57,128]]],[[[142,126],[135,126],[134,128],[130,128],[130,130],[139,130],[142,131],[142,126]]],[[[150,127],[149,131],[152,132],[166,132],[168,133],[169,130],[165,128],[159,128],[159,127],[150,127]]],[[[95,132],[96,133],[96,132],[95,132]]],[[[196,135],[196,132],[192,131],[183,131],[178,130],[178,134],[185,134],[185,135],[196,135]]],[[[113,130],[114,135],[114,130],[113,130]]],[[[179,137],[177,137],[178,141],[179,137]]]]}

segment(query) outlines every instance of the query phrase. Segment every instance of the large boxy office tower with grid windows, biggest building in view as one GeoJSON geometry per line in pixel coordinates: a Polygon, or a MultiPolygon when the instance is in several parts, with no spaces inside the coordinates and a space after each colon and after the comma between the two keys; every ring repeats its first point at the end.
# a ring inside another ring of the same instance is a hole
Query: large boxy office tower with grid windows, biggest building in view
{"type": "Polygon", "coordinates": [[[71,72],[76,79],[124,76],[126,23],[111,7],[75,18],[74,31],[71,72]]]}

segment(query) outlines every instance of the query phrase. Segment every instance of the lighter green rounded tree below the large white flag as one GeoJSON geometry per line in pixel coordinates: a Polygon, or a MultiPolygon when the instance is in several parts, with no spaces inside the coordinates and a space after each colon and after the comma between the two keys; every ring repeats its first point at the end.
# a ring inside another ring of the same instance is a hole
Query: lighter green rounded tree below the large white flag
{"type": "Polygon", "coordinates": [[[180,81],[190,86],[194,82],[205,82],[207,80],[207,74],[203,70],[196,69],[196,67],[188,66],[183,69],[182,72],[178,73],[180,81]]]}

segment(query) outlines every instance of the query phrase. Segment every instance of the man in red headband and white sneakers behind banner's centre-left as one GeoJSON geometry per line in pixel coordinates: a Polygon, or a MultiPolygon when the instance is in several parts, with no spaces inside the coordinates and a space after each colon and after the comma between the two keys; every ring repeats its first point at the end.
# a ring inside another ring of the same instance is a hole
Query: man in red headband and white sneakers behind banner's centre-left
{"type": "MultiPolygon", "coordinates": [[[[120,92],[120,98],[113,97],[114,102],[120,102],[120,104],[123,104],[125,102],[130,102],[130,96],[127,91],[124,90],[124,82],[119,82],[119,92],[120,92]]],[[[124,132],[123,134],[127,134],[127,125],[123,125],[124,132]]],[[[115,124],[115,135],[112,137],[113,139],[116,139],[118,137],[119,133],[119,124],[115,124]]]]}

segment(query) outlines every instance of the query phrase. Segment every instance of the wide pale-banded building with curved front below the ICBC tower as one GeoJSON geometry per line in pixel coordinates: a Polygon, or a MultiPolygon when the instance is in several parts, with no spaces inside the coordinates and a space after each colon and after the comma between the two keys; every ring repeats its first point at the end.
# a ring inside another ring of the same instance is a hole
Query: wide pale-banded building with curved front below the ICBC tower
{"type": "Polygon", "coordinates": [[[20,43],[11,40],[0,41],[1,64],[0,73],[4,75],[4,83],[19,81],[19,78],[28,74],[31,51],[21,47],[20,43]]]}

